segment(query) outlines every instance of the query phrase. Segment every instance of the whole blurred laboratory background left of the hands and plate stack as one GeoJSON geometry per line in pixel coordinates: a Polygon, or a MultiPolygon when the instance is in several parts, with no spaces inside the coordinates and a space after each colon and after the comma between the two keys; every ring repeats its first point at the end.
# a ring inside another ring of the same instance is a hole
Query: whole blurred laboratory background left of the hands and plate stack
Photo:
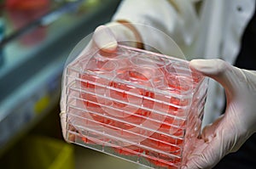
{"type": "Polygon", "coordinates": [[[131,169],[61,135],[61,75],[73,47],[119,0],[0,0],[0,168],[131,169]]]}

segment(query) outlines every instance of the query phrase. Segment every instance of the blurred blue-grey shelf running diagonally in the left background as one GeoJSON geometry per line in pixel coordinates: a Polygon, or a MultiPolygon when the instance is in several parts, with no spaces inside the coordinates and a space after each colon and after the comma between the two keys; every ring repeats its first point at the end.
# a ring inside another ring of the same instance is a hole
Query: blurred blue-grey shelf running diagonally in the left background
{"type": "Polygon", "coordinates": [[[37,44],[22,44],[22,35],[2,48],[0,155],[59,103],[68,54],[97,25],[108,22],[119,3],[98,0],[86,6],[88,2],[44,25],[44,38],[37,44]]]}

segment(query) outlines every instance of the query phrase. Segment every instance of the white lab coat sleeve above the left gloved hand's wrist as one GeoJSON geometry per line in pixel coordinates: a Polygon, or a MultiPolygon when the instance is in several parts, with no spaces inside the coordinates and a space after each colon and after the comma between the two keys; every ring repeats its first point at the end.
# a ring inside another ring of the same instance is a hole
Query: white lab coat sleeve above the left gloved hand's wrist
{"type": "MultiPolygon", "coordinates": [[[[152,26],[172,37],[178,46],[189,45],[198,26],[194,3],[188,0],[124,0],[113,15],[114,20],[152,26]]],[[[154,42],[154,48],[164,54],[170,53],[165,38],[143,26],[135,26],[145,44],[154,42]]]]}

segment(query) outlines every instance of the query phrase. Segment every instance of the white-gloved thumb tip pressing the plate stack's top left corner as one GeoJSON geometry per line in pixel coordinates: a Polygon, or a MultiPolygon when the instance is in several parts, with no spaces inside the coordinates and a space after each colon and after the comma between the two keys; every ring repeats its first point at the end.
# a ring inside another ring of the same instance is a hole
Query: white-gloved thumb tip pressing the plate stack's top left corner
{"type": "Polygon", "coordinates": [[[98,48],[108,53],[114,52],[118,45],[113,32],[106,25],[98,26],[92,39],[98,48]]]}

